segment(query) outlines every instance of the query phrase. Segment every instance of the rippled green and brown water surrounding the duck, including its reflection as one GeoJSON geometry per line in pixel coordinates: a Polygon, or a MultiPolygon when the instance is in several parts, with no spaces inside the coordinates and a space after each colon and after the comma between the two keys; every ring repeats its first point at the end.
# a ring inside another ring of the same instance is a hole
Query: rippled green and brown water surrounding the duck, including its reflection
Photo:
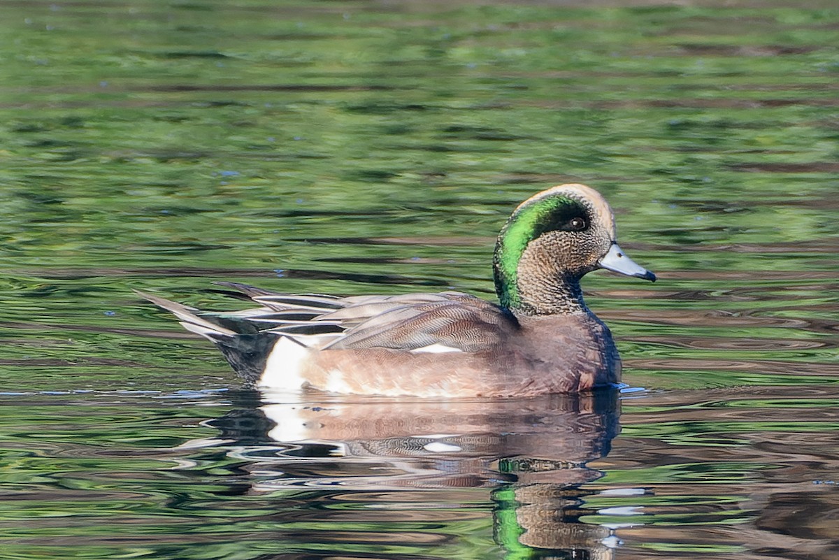
{"type": "Polygon", "coordinates": [[[839,10],[643,4],[0,4],[0,556],[839,557],[839,10]],[[492,298],[570,181],[621,391],[242,391],[131,292],[492,298]]]}

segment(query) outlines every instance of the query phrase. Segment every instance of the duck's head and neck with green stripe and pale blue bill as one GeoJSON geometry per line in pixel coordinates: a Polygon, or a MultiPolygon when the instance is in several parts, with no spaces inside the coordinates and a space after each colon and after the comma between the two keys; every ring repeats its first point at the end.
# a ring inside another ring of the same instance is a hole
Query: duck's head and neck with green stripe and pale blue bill
{"type": "Polygon", "coordinates": [[[655,281],[618,246],[612,209],[584,184],[560,184],[513,210],[493,268],[501,304],[524,314],[585,310],[580,278],[597,268],[655,281]]]}

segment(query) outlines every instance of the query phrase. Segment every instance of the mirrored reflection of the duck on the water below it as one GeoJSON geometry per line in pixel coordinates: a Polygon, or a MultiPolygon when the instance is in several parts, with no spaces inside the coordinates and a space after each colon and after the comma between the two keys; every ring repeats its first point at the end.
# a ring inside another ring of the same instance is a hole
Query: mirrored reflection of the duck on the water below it
{"type": "Polygon", "coordinates": [[[616,539],[605,526],[579,521],[589,513],[580,487],[601,476],[586,464],[609,452],[620,429],[617,392],[300,402],[242,391],[234,410],[207,422],[217,438],[185,447],[223,446],[245,459],[238,466],[252,495],[319,489],[352,500],[351,490],[396,491],[404,503],[405,490],[433,490],[434,498],[424,492],[417,500],[420,509],[423,500],[448,501],[454,492],[457,501],[460,490],[484,489],[493,537],[508,557],[607,558],[616,539]]]}

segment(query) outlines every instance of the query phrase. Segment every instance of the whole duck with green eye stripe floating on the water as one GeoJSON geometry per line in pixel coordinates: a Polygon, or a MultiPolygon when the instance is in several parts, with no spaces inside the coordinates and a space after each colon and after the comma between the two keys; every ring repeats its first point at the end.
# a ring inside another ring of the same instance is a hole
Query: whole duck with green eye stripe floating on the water
{"type": "Polygon", "coordinates": [[[621,380],[606,324],[581,278],[606,269],[654,282],[618,246],[611,207],[584,184],[560,184],[513,210],[498,234],[498,303],[468,293],[339,297],[217,283],[258,307],[202,311],[152,293],[210,340],[248,387],[388,397],[535,397],[621,380]]]}

